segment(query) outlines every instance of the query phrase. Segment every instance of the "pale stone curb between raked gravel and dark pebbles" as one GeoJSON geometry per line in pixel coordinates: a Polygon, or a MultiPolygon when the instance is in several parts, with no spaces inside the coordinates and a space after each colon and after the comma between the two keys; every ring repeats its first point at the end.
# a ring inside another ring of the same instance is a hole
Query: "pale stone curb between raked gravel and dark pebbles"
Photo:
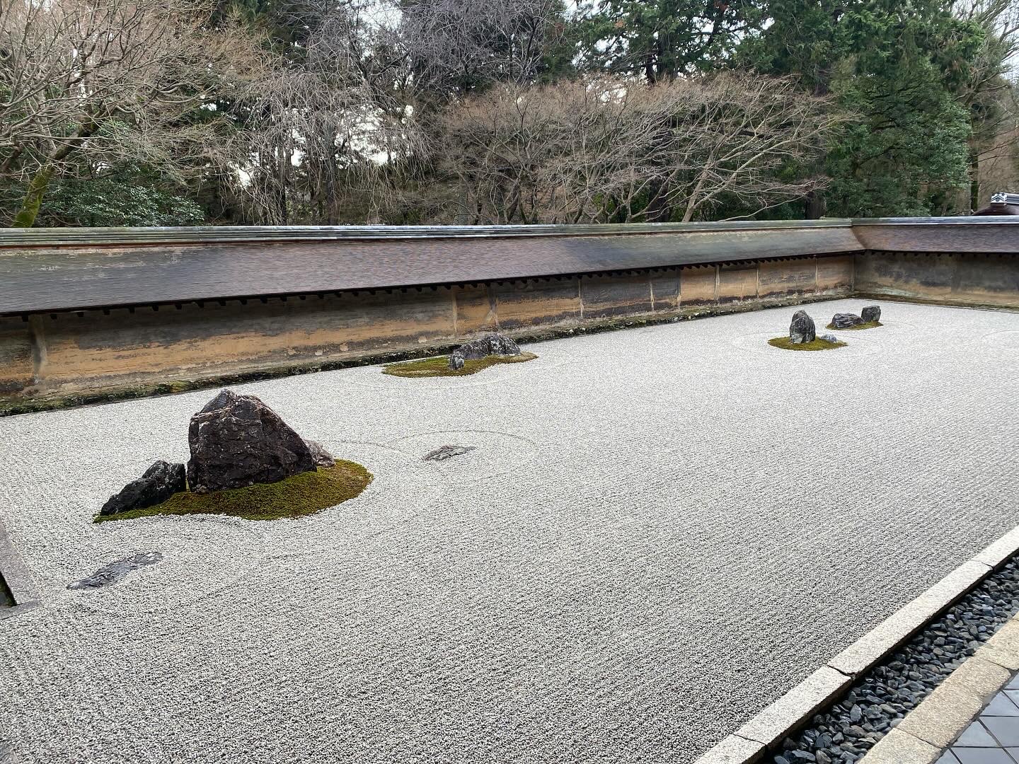
{"type": "MultiPolygon", "coordinates": [[[[696,764],[756,764],[764,761],[769,751],[776,751],[783,740],[805,724],[820,708],[849,690],[858,676],[897,650],[1016,552],[1019,552],[1019,527],[828,660],[733,734],[723,738],[697,759],[696,764]]],[[[989,641],[987,644],[990,644],[989,641]]]]}

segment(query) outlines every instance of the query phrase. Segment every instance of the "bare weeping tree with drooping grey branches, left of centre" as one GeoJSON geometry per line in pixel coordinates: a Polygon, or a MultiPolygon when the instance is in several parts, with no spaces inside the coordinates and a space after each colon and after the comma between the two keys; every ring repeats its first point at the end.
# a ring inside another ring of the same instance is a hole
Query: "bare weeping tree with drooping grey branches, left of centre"
{"type": "Polygon", "coordinates": [[[377,218],[425,153],[398,14],[369,0],[303,3],[300,13],[300,59],[277,59],[235,105],[244,126],[228,157],[240,168],[238,195],[277,224],[296,205],[340,222],[352,197],[377,218]]]}

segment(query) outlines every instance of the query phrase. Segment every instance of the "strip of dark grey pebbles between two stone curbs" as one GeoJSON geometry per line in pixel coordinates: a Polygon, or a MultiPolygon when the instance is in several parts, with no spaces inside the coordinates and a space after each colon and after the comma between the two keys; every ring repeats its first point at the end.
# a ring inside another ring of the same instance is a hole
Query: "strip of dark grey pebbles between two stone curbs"
{"type": "Polygon", "coordinates": [[[774,764],[859,761],[1016,612],[1019,569],[1012,561],[868,671],[808,728],[783,741],[783,753],[771,760],[774,764]]]}

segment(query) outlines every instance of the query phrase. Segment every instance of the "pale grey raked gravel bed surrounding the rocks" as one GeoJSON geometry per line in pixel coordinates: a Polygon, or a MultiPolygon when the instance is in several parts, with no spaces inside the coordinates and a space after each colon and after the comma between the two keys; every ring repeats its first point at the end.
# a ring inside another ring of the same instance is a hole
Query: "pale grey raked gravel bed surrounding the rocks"
{"type": "Polygon", "coordinates": [[[1019,314],[882,308],[830,352],[768,346],[781,309],[238,386],[375,475],[300,520],[91,524],[212,392],[0,419],[42,600],[0,621],[0,751],[689,764],[1019,525],[1019,314]]]}

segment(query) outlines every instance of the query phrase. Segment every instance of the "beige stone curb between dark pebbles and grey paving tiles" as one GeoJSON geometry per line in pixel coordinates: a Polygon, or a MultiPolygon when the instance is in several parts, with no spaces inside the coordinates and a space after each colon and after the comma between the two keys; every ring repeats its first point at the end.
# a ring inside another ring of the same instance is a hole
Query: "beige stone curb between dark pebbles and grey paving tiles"
{"type": "Polygon", "coordinates": [[[1013,615],[881,738],[860,764],[934,764],[1017,669],[1019,615],[1013,615]]]}

